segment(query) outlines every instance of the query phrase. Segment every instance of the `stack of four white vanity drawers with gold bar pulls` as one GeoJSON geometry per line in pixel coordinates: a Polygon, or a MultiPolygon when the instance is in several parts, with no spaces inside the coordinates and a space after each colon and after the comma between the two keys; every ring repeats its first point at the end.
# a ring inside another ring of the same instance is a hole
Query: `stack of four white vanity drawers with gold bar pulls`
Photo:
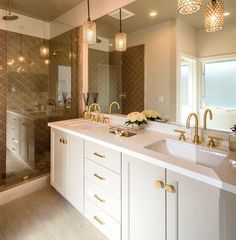
{"type": "Polygon", "coordinates": [[[109,240],[121,240],[121,153],[85,141],[84,214],[109,240]]]}

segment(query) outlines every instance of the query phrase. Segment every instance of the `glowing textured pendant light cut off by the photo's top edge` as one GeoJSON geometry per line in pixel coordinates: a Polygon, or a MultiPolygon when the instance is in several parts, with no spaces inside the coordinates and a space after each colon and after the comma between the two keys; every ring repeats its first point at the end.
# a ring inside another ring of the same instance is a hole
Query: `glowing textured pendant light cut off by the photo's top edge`
{"type": "Polygon", "coordinates": [[[189,15],[200,10],[202,0],[178,0],[178,12],[189,15]]]}

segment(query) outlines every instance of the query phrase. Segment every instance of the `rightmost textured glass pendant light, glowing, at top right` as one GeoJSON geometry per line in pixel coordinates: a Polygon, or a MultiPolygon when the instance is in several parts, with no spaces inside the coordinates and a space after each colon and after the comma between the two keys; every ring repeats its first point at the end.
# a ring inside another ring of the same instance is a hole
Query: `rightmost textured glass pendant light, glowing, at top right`
{"type": "Polygon", "coordinates": [[[222,0],[212,0],[205,6],[205,30],[217,32],[224,28],[224,3],[222,0]]]}

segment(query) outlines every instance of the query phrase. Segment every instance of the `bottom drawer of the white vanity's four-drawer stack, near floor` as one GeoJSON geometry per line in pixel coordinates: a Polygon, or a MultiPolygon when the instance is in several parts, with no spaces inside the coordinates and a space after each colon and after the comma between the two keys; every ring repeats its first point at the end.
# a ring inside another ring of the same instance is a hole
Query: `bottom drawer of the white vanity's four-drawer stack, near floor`
{"type": "Polygon", "coordinates": [[[120,240],[121,227],[118,222],[116,222],[86,198],[84,205],[85,217],[95,227],[97,227],[109,240],[120,240]]]}

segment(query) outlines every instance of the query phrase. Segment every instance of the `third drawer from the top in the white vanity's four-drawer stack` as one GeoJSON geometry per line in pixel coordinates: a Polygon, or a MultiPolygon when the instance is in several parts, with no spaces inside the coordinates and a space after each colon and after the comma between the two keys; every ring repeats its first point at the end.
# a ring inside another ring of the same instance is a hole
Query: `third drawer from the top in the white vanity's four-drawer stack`
{"type": "Polygon", "coordinates": [[[121,200],[85,178],[85,197],[120,222],[121,200]]]}

